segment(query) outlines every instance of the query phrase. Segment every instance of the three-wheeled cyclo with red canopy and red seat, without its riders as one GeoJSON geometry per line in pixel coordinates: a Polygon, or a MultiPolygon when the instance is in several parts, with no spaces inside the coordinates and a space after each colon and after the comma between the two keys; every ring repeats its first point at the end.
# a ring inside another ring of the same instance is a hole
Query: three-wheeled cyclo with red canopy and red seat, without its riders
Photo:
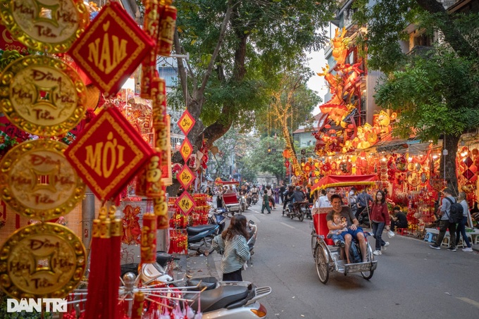
{"type": "MultiPolygon", "coordinates": [[[[355,185],[373,185],[377,180],[376,175],[329,175],[321,178],[316,184],[311,187],[311,192],[318,189],[325,189],[328,187],[352,187],[355,185]]],[[[373,250],[366,238],[366,258],[364,262],[346,263],[345,258],[342,258],[341,250],[343,248],[337,247],[333,244],[332,239],[328,239],[328,224],[326,222],[326,215],[332,211],[332,208],[317,208],[313,215],[313,231],[311,232],[311,250],[313,252],[314,262],[316,263],[316,272],[319,280],[326,284],[329,275],[333,271],[344,273],[361,273],[366,280],[373,277],[374,270],[378,266],[378,261],[375,261],[373,250]]],[[[310,225],[311,225],[310,223],[310,225]]],[[[352,240],[352,246],[356,245],[357,251],[361,255],[359,244],[355,239],[352,240]]],[[[349,252],[344,252],[349,254],[349,252]]]]}

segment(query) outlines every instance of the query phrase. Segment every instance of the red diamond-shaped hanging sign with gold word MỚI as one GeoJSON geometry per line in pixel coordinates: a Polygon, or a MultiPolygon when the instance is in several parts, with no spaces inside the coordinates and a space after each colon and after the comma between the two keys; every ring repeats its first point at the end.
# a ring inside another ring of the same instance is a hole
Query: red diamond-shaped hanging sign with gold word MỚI
{"type": "Polygon", "coordinates": [[[116,196],[152,154],[114,106],[104,108],[66,150],[68,161],[101,200],[116,196]]]}

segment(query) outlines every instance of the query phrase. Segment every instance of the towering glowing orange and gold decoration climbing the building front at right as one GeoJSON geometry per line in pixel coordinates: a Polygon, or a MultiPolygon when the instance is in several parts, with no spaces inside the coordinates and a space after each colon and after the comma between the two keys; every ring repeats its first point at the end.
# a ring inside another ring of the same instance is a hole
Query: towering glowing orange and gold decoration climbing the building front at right
{"type": "Polygon", "coordinates": [[[345,63],[349,55],[351,40],[346,35],[346,29],[342,32],[338,29],[333,38],[332,56],[336,64],[332,69],[329,65],[323,68],[320,76],[324,76],[332,98],[319,108],[327,118],[321,120],[316,137],[316,154],[334,155],[336,153],[349,153],[356,149],[368,149],[378,141],[391,139],[392,123],[396,120],[396,113],[388,114],[380,111],[373,118],[373,125],[358,123],[361,101],[361,60],[354,64],[345,63]],[[332,73],[331,71],[335,72],[332,73]]]}

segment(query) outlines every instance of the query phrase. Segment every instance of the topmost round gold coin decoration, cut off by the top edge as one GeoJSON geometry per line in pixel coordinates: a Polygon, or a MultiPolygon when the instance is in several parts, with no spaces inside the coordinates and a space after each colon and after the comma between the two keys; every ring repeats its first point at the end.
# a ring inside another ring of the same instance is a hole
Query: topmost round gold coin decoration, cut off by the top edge
{"type": "Polygon", "coordinates": [[[89,23],[83,0],[0,0],[0,14],[15,39],[51,54],[68,51],[89,23]]]}

